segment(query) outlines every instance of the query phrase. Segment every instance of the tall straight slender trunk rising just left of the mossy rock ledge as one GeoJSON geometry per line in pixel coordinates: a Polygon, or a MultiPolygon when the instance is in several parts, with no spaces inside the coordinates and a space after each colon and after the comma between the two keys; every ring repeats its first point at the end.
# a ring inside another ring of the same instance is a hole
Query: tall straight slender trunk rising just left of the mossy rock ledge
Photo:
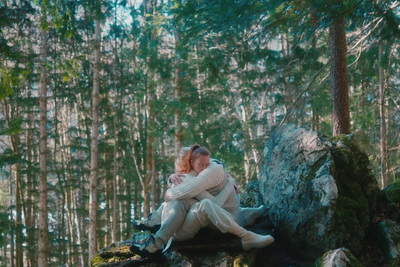
{"type": "Polygon", "coordinates": [[[98,134],[99,134],[99,91],[100,91],[100,21],[95,22],[94,69],[92,92],[92,132],[89,181],[89,263],[97,251],[97,178],[98,178],[98,134]]]}

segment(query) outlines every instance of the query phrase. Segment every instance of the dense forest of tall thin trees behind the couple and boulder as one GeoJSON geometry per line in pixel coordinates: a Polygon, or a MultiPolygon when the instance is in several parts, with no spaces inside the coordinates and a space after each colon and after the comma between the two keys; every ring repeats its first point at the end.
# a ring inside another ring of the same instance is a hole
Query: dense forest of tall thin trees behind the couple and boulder
{"type": "Polygon", "coordinates": [[[381,186],[399,179],[399,6],[0,1],[1,266],[88,266],[162,201],[182,145],[208,147],[243,190],[276,127],[331,136],[335,108],[381,186]]]}

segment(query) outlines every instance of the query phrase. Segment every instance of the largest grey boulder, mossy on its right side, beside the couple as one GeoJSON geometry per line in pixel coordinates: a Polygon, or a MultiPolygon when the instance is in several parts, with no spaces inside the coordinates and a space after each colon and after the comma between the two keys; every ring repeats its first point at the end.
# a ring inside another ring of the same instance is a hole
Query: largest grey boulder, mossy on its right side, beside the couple
{"type": "Polygon", "coordinates": [[[278,240],[314,259],[343,246],[360,252],[379,189],[351,136],[284,125],[263,156],[260,191],[278,240]]]}

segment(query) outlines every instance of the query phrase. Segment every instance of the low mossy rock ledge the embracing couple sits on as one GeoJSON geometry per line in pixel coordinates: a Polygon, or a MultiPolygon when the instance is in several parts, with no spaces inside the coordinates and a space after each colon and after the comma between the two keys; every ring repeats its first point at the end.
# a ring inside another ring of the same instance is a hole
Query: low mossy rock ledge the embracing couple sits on
{"type": "MultiPolygon", "coordinates": [[[[260,230],[259,224],[250,229],[257,232],[260,230]]],[[[265,234],[265,229],[261,230],[265,234]]],[[[91,267],[254,266],[257,255],[257,251],[243,251],[238,237],[210,229],[202,229],[192,240],[173,242],[170,249],[160,257],[142,259],[130,252],[129,246],[132,240],[138,242],[149,235],[147,231],[139,232],[130,240],[103,248],[93,257],[91,267]]],[[[267,255],[272,253],[269,247],[264,248],[263,252],[267,255]]]]}

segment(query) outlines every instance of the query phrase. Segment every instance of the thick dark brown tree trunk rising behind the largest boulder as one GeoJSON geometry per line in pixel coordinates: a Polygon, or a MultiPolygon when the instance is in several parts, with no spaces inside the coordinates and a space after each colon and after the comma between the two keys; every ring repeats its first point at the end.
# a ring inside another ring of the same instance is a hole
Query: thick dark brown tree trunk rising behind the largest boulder
{"type": "Polygon", "coordinates": [[[345,18],[340,16],[330,26],[333,135],[350,133],[350,104],[347,81],[345,18]]]}

